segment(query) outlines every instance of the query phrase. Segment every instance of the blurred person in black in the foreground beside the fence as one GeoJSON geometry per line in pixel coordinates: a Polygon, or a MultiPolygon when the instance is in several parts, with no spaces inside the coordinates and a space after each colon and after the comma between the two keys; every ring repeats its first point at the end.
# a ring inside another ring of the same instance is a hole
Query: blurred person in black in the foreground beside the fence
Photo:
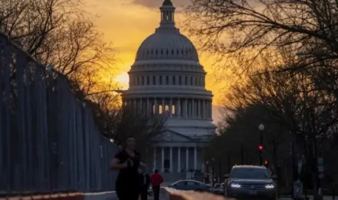
{"type": "Polygon", "coordinates": [[[139,199],[139,167],[145,168],[140,154],[135,150],[135,138],[129,136],[123,149],[111,161],[110,168],[119,171],[115,191],[119,200],[139,199]]]}

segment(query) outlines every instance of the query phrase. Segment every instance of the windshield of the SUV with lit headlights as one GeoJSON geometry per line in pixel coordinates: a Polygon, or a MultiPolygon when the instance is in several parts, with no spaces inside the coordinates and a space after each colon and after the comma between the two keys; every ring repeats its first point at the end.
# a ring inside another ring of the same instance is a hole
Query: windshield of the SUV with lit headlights
{"type": "Polygon", "coordinates": [[[269,179],[270,176],[265,168],[233,168],[231,178],[244,179],[269,179]]]}

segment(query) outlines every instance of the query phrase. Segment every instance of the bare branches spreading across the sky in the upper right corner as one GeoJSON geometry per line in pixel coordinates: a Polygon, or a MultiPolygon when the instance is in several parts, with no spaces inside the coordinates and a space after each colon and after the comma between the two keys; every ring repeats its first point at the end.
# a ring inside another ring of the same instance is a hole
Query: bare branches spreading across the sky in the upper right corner
{"type": "MultiPolygon", "coordinates": [[[[337,60],[337,13],[333,0],[193,0],[185,22],[204,50],[249,69],[259,55],[281,47],[306,53],[306,65],[337,60]]],[[[280,59],[278,53],[270,62],[280,59]]]]}

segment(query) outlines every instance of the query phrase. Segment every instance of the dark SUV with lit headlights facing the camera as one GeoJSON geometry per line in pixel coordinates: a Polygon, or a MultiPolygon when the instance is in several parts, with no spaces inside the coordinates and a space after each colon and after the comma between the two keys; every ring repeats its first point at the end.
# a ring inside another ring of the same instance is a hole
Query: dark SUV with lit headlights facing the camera
{"type": "Polygon", "coordinates": [[[225,175],[225,196],[275,200],[275,178],[265,166],[233,166],[230,174],[225,175]]]}

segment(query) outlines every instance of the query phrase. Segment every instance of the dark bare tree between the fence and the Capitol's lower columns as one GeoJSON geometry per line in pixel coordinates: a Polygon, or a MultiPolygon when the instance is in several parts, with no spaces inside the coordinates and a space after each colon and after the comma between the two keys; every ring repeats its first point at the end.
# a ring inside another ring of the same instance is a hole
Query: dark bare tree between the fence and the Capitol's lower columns
{"type": "Polygon", "coordinates": [[[132,112],[129,107],[121,107],[118,94],[99,93],[91,99],[89,105],[101,134],[113,139],[117,145],[122,145],[125,138],[132,135],[137,140],[137,149],[144,155],[147,147],[165,131],[166,116],[147,116],[132,112]]]}

